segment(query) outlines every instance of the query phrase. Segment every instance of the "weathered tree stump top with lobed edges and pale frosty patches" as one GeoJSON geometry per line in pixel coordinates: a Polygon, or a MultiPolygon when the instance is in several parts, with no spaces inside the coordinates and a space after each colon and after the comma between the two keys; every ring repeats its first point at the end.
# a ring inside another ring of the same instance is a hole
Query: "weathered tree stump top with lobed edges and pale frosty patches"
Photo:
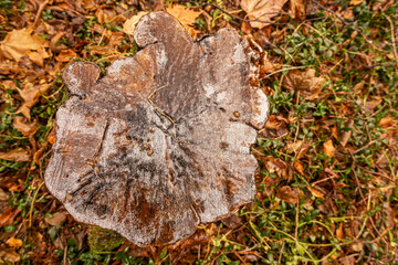
{"type": "Polygon", "coordinates": [[[142,51],[104,77],[87,62],[63,80],[49,190],[78,221],[137,245],[174,243],[255,194],[250,152],[269,112],[249,85],[247,42],[231,29],[193,42],[177,20],[138,22],[142,51]]]}

